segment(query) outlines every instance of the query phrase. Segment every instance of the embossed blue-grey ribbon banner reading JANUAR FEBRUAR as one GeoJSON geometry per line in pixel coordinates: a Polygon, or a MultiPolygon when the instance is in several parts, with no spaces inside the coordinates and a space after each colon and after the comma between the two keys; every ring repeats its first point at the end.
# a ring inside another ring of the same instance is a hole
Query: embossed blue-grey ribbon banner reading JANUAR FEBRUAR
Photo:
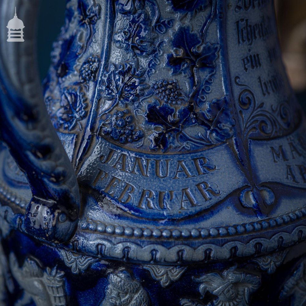
{"type": "MultiPolygon", "coordinates": [[[[97,147],[105,148],[105,154],[89,158],[84,164],[84,169],[88,169],[87,163],[95,165],[91,183],[136,215],[190,216],[247,183],[226,144],[181,155],[126,154],[102,139],[97,147]],[[232,179],[224,180],[224,176],[232,179]]],[[[96,154],[94,151],[93,155],[96,154]]],[[[86,170],[82,175],[86,175],[86,170]]]]}

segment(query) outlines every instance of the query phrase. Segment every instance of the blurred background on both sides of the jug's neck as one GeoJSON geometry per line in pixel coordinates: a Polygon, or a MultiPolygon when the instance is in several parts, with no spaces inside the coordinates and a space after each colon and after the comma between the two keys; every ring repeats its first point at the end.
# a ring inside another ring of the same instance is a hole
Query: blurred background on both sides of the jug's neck
{"type": "MultiPolygon", "coordinates": [[[[65,0],[40,4],[38,59],[41,80],[50,66],[52,43],[64,24],[65,0]]],[[[275,0],[279,37],[287,73],[306,112],[306,0],[275,0]]]]}

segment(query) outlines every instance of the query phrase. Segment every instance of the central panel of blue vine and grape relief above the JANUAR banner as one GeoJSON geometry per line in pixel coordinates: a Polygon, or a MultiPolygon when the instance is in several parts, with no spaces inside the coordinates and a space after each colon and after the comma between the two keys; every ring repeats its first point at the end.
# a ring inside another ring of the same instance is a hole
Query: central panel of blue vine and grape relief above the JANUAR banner
{"type": "Polygon", "coordinates": [[[99,135],[162,152],[223,143],[233,136],[235,124],[229,100],[208,101],[206,96],[220,50],[218,43],[205,41],[206,28],[214,18],[213,4],[166,1],[164,5],[174,11],[173,19],[163,19],[159,5],[156,1],[115,2],[114,47],[125,50],[130,61],[111,60],[101,78],[99,135]],[[183,11],[208,14],[200,32],[180,21],[174,29],[175,13],[183,11]],[[168,76],[154,79],[156,65],[163,65],[168,76]],[[184,78],[184,88],[171,79],[173,75],[184,78]]]}

